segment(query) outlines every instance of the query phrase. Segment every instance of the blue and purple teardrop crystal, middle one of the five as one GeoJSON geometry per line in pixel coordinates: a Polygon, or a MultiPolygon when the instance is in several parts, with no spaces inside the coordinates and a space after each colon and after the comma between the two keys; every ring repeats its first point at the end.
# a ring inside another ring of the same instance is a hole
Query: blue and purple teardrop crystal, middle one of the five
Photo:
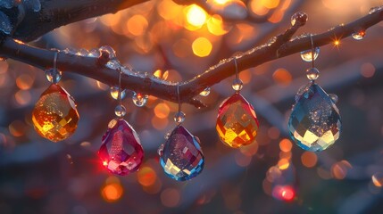
{"type": "Polygon", "coordinates": [[[175,180],[196,177],[204,169],[204,154],[198,138],[180,125],[171,132],[160,153],[165,174],[175,180]]]}

